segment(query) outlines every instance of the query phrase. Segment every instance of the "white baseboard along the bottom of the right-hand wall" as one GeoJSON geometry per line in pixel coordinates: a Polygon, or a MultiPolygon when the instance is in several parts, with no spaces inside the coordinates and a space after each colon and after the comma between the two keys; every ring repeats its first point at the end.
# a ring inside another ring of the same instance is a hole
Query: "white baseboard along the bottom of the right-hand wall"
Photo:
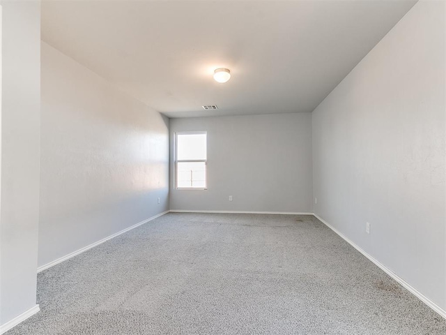
{"type": "Polygon", "coordinates": [[[330,228],[333,232],[335,232],[336,234],[339,235],[339,237],[341,237],[342,239],[344,239],[348,244],[350,244],[351,246],[353,246],[353,248],[355,248],[357,251],[359,251],[360,253],[362,253],[362,255],[364,255],[365,257],[367,257],[369,260],[371,260],[371,262],[374,263],[374,265],[376,265],[377,267],[379,267],[381,270],[383,270],[386,274],[388,274],[390,277],[392,277],[395,281],[397,281],[401,286],[403,286],[403,288],[406,288],[406,290],[408,290],[410,293],[412,293],[413,295],[415,295],[415,297],[417,297],[418,299],[420,299],[421,301],[424,302],[424,304],[426,304],[427,306],[429,306],[430,308],[433,309],[433,311],[436,311],[436,313],[438,313],[440,316],[442,316],[443,318],[446,319],[446,311],[441,308],[440,306],[438,306],[437,304],[435,304],[433,301],[431,301],[429,298],[425,297],[424,295],[422,295],[422,293],[418,292],[417,290],[415,290],[415,288],[413,288],[412,286],[410,286],[410,284],[408,284],[406,281],[404,281],[403,279],[401,279],[399,276],[397,276],[397,274],[394,274],[394,272],[392,272],[390,269],[388,269],[387,267],[385,267],[385,265],[381,264],[378,260],[376,260],[376,258],[372,257],[371,255],[369,255],[368,253],[366,253],[364,250],[362,250],[362,248],[360,248],[359,246],[357,246],[355,243],[353,243],[353,241],[351,241],[350,239],[348,239],[347,237],[344,236],[344,234],[341,234],[341,232],[339,232],[336,228],[332,227],[332,225],[330,225],[327,221],[325,221],[323,218],[321,218],[320,216],[318,216],[317,214],[313,214],[314,216],[316,216],[316,218],[318,218],[319,221],[321,221],[323,224],[325,224],[328,228],[330,228]]]}

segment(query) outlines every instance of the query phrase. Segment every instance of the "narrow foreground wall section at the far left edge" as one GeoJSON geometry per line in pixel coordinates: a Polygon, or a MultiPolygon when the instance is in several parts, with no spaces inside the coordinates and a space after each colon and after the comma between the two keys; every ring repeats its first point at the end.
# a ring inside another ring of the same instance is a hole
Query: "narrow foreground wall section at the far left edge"
{"type": "Polygon", "coordinates": [[[36,306],[40,3],[3,1],[0,325],[36,306]]]}

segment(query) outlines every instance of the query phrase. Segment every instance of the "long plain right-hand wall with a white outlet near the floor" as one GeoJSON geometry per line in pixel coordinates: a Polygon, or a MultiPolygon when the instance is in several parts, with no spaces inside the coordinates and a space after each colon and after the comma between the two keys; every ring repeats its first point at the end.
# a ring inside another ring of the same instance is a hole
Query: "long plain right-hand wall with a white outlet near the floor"
{"type": "Polygon", "coordinates": [[[312,115],[314,212],[443,310],[445,56],[420,1],[312,115]]]}

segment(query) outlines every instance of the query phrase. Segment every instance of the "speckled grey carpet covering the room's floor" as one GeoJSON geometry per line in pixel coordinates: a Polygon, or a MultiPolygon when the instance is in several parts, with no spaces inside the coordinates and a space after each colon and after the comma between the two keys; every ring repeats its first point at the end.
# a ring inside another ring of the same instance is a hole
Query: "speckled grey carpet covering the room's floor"
{"type": "Polygon", "coordinates": [[[38,275],[17,334],[446,334],[313,216],[167,214],[38,275]]]}

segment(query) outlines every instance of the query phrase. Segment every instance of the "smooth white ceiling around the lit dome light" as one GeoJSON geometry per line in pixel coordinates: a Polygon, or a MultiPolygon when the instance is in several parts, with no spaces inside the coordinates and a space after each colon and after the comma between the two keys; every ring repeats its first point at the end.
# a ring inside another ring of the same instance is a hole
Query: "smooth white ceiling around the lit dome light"
{"type": "Polygon", "coordinates": [[[42,39],[168,117],[312,112],[415,2],[44,1],[42,39]]]}

